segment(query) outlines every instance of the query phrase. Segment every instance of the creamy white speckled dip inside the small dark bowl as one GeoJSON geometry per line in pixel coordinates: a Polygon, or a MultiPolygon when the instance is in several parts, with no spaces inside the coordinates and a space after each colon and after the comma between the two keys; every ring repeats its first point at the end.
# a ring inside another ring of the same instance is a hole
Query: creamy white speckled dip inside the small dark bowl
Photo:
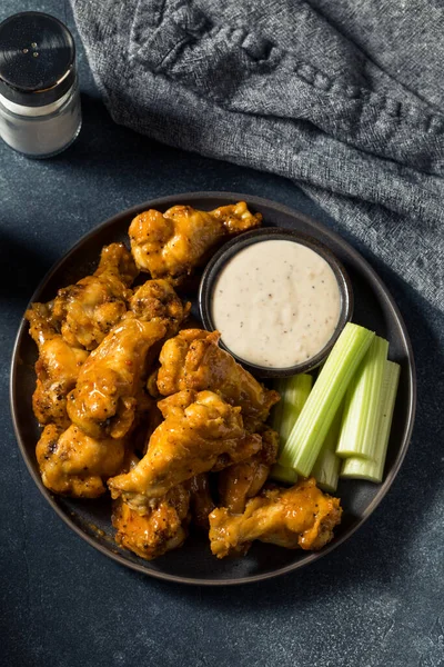
{"type": "Polygon", "coordinates": [[[330,265],[294,241],[264,240],[240,250],[212,292],[212,318],[225,346],[268,368],[314,357],[333,336],[340,312],[330,265]]]}

